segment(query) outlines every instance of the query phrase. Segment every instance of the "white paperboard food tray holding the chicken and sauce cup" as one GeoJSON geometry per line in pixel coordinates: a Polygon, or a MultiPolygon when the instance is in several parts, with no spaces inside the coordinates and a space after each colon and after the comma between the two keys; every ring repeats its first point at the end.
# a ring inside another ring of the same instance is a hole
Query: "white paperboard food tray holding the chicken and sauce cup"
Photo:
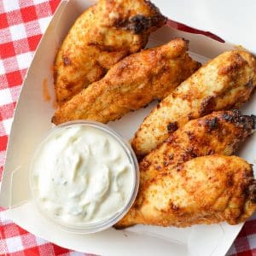
{"type": "MultiPolygon", "coordinates": [[[[157,3],[157,1],[154,1],[157,3]]],[[[15,110],[15,119],[9,136],[8,151],[3,172],[0,205],[8,208],[3,212],[5,218],[36,236],[52,241],[61,247],[67,247],[84,253],[101,255],[224,255],[241,230],[242,224],[231,226],[226,223],[195,225],[191,228],[177,229],[137,225],[126,230],[113,228],[93,234],[74,235],[51,224],[34,207],[29,193],[28,170],[32,154],[42,138],[52,129],[50,119],[54,109],[54,86],[52,65],[56,49],[67,35],[74,20],[91,5],[91,1],[62,1],[42,38],[38,50],[28,70],[19,102],[15,110]],[[43,85],[44,84],[44,85],[43,85]],[[49,86],[50,101],[45,101],[43,91],[49,86]]],[[[166,10],[165,10],[166,13],[166,10]]],[[[168,26],[152,33],[148,47],[163,44],[172,38],[189,39],[190,55],[197,61],[205,62],[225,50],[234,49],[234,45],[220,43],[215,39],[200,35],[200,31],[185,31],[171,26],[177,23],[169,21],[168,26]]],[[[208,33],[209,34],[209,33],[208,33]]],[[[256,114],[256,95],[242,111],[256,114]]],[[[122,119],[110,122],[112,128],[130,139],[143,118],[154,108],[142,108],[128,113],[122,119]]],[[[250,137],[239,155],[253,164],[256,150],[256,137],[250,137]]],[[[255,168],[254,168],[255,171],[255,168]]]]}

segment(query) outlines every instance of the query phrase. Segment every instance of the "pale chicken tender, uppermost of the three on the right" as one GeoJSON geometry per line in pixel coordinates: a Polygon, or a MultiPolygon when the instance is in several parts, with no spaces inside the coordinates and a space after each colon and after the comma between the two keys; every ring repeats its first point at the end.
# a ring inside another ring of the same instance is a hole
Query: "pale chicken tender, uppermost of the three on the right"
{"type": "Polygon", "coordinates": [[[238,108],[256,85],[256,61],[245,50],[224,52],[177,86],[144,119],[132,147],[138,156],[148,154],[190,119],[212,111],[238,108]]]}

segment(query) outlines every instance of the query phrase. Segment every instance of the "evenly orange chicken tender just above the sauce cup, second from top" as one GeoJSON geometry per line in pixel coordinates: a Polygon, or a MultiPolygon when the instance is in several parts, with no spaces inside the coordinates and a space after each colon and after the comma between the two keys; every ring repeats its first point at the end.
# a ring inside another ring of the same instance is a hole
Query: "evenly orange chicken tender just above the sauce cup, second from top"
{"type": "Polygon", "coordinates": [[[107,123],[164,98],[200,67],[187,50],[188,42],[176,38],[125,57],[103,79],[61,106],[52,121],[56,125],[75,119],[107,123]]]}

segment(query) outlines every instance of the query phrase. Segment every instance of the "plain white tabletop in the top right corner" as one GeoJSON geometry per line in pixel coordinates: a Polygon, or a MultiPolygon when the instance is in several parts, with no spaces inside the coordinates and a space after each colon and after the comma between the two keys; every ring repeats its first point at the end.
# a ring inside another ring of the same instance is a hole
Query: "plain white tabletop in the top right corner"
{"type": "Polygon", "coordinates": [[[152,0],[168,18],[256,52],[255,0],[152,0]]]}

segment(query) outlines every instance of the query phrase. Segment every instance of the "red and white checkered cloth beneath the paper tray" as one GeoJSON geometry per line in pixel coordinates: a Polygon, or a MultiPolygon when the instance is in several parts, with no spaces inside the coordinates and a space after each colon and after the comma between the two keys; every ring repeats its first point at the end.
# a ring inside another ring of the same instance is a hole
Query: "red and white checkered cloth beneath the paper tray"
{"type": "MultiPolygon", "coordinates": [[[[0,180],[20,86],[38,42],[61,0],[0,0],[0,180]]],[[[0,255],[85,255],[44,241],[1,214],[0,255]]],[[[256,256],[256,218],[247,221],[228,255],[256,256]]]]}

